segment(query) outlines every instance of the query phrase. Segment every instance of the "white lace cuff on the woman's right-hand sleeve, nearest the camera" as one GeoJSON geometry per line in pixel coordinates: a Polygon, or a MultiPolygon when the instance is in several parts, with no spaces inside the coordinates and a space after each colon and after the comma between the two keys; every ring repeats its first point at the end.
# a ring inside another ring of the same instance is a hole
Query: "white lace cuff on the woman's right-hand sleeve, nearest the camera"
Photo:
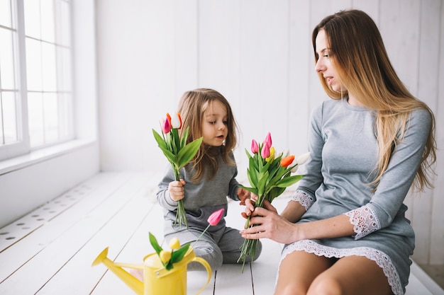
{"type": "Polygon", "coordinates": [[[365,205],[344,214],[350,217],[350,224],[353,224],[353,231],[356,233],[355,240],[381,229],[379,219],[370,206],[365,205]]]}

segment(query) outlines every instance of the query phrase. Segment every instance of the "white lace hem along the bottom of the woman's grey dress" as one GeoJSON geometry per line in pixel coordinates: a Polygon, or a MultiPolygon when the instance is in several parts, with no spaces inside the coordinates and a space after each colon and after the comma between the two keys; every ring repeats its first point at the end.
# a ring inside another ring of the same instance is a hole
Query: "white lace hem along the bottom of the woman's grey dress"
{"type": "MultiPolygon", "coordinates": [[[[387,277],[390,287],[394,295],[404,295],[403,287],[401,285],[401,279],[399,278],[398,271],[394,266],[392,259],[386,253],[368,247],[357,247],[348,249],[338,249],[332,248],[325,245],[319,245],[318,243],[311,240],[302,240],[287,245],[282,251],[281,261],[294,251],[305,251],[306,253],[313,253],[318,256],[325,256],[326,258],[343,258],[348,256],[363,256],[379,265],[384,271],[387,277]]],[[[280,266],[280,262],[279,262],[280,266]]]]}

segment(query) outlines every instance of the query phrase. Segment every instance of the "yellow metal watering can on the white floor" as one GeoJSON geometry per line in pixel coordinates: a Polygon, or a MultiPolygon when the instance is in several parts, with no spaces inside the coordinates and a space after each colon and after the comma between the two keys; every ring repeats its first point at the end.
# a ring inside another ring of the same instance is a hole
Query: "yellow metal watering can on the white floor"
{"type": "Polygon", "coordinates": [[[208,279],[197,294],[204,291],[211,279],[211,267],[203,258],[196,257],[193,248],[189,248],[187,254],[179,262],[173,264],[171,270],[165,269],[157,253],[151,253],[143,258],[143,265],[129,263],[115,263],[106,256],[108,248],[105,248],[99,256],[92,262],[92,265],[98,265],[103,262],[106,267],[125,282],[128,287],[133,289],[139,295],[186,295],[187,294],[187,265],[189,262],[199,262],[204,265],[208,273],[208,279]],[[143,282],[132,274],[123,270],[123,267],[143,270],[143,282]]]}

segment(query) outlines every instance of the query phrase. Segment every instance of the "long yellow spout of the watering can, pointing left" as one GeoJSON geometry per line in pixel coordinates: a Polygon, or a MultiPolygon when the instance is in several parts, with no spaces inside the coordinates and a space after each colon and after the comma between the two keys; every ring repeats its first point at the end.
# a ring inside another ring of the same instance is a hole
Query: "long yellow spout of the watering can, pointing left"
{"type": "MultiPolygon", "coordinates": [[[[92,265],[99,265],[99,263],[103,263],[106,267],[111,270],[117,277],[119,277],[125,284],[128,285],[136,294],[143,295],[143,282],[140,282],[139,279],[134,277],[132,274],[123,270],[123,268],[114,263],[112,260],[107,258],[108,255],[108,247],[105,248],[101,253],[97,256],[97,258],[92,262],[92,265]]],[[[137,268],[143,270],[143,265],[128,265],[128,267],[137,268]]]]}

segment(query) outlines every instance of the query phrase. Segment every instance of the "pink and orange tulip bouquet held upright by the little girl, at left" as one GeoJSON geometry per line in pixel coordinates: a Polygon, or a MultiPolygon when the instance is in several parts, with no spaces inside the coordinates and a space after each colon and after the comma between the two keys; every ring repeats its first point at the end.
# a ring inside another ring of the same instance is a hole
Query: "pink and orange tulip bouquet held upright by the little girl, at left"
{"type": "MultiPolygon", "coordinates": [[[[195,139],[187,144],[189,128],[179,134],[179,129],[182,129],[182,117],[179,112],[177,115],[170,116],[167,113],[167,117],[162,121],[162,136],[158,134],[155,129],[152,129],[152,134],[157,141],[158,146],[162,150],[163,154],[167,157],[171,163],[172,170],[174,171],[174,179],[180,179],[180,168],[184,167],[192,161],[192,158],[196,156],[199,147],[201,146],[203,137],[195,139]]],[[[184,204],[182,199],[177,202],[177,214],[175,223],[185,224],[188,227],[187,216],[185,214],[184,204]]]]}

